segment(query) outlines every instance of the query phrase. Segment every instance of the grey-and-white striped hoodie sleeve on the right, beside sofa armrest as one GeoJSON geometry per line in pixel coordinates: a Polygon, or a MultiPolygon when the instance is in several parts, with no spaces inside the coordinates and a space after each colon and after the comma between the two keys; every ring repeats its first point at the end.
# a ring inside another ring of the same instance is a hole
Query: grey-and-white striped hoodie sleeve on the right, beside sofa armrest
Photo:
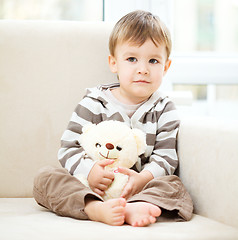
{"type": "Polygon", "coordinates": [[[149,157],[149,162],[143,167],[148,170],[154,177],[173,174],[178,166],[177,155],[177,133],[180,121],[177,110],[173,102],[164,103],[161,111],[157,111],[156,121],[157,131],[150,139],[154,139],[153,151],[149,157]]]}

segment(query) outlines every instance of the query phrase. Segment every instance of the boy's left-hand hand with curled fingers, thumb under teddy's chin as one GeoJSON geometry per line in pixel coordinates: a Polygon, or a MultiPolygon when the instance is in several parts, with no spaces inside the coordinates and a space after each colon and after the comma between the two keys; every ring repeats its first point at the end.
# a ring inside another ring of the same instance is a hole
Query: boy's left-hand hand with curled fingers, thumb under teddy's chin
{"type": "Polygon", "coordinates": [[[88,175],[88,183],[90,188],[100,196],[104,195],[104,191],[114,179],[114,174],[104,168],[112,164],[114,161],[110,159],[100,160],[94,164],[88,175]]]}

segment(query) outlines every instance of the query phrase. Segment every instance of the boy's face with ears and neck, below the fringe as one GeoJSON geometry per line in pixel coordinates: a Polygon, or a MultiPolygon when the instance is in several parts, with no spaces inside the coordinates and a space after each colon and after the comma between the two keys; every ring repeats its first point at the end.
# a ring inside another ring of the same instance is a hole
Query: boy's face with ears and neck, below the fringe
{"type": "Polygon", "coordinates": [[[170,64],[165,46],[155,46],[150,39],[141,46],[117,45],[115,56],[109,56],[110,69],[120,82],[115,96],[127,104],[145,101],[159,88],[170,64]]]}

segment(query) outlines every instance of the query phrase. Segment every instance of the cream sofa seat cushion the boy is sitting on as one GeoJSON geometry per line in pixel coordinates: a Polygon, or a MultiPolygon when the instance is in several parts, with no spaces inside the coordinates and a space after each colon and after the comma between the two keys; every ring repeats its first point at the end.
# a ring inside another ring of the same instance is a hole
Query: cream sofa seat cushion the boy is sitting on
{"type": "Polygon", "coordinates": [[[119,227],[60,217],[32,198],[0,199],[0,239],[238,239],[238,229],[199,215],[189,222],[157,222],[148,227],[119,227]]]}

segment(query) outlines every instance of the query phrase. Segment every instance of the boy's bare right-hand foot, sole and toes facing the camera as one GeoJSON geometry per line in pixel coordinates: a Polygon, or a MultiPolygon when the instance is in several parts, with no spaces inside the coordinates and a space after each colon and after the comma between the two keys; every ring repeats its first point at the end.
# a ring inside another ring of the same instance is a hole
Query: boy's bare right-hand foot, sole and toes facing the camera
{"type": "Polygon", "coordinates": [[[156,222],[161,209],[147,202],[132,202],[126,204],[125,221],[133,227],[144,227],[156,222]]]}

